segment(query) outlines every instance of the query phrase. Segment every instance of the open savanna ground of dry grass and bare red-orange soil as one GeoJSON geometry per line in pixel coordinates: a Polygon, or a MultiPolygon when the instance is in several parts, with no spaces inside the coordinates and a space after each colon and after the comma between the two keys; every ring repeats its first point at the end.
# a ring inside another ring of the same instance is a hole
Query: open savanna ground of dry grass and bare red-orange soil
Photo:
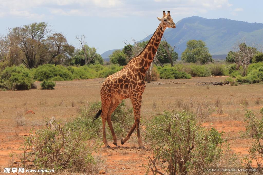
{"type": "MultiPolygon", "coordinates": [[[[263,106],[262,84],[195,85],[198,81],[223,81],[225,78],[202,77],[175,80],[186,82],[186,84],[146,84],[141,117],[148,119],[151,115],[160,114],[165,109],[194,108],[196,110],[201,107],[203,116],[207,115],[205,118],[200,118],[200,122],[204,123],[203,126],[224,131],[223,137],[230,143],[231,150],[240,157],[246,156],[252,140],[241,137],[240,131],[245,131],[244,102],[248,109],[258,114],[263,106]],[[213,112],[206,113],[205,106],[209,106],[213,112]]],[[[70,121],[78,115],[79,106],[99,101],[101,81],[103,81],[102,78],[56,82],[54,90],[40,90],[40,82],[36,82],[38,89],[0,91],[0,173],[5,167],[11,165],[12,158],[9,153],[22,152],[19,146],[23,143],[23,136],[28,135],[32,128],[45,127],[45,122],[52,116],[64,122],[70,121]],[[28,110],[33,110],[35,114],[25,114],[28,110]]],[[[158,82],[166,83],[168,80],[158,82]]],[[[125,101],[128,107],[131,107],[130,100],[125,101]]],[[[143,132],[142,135],[144,135],[143,132]]],[[[118,138],[118,145],[121,145],[120,139],[118,138]]],[[[147,157],[152,156],[152,152],[144,139],[143,142],[146,149],[138,148],[136,134],[133,134],[131,139],[120,147],[114,147],[112,140],[108,140],[111,149],[102,147],[94,153],[104,160],[100,169],[106,170],[107,174],[145,174],[148,167],[147,157]]],[[[14,160],[16,158],[14,157],[14,160]]],[[[67,172],[64,173],[67,174],[67,172]]]]}

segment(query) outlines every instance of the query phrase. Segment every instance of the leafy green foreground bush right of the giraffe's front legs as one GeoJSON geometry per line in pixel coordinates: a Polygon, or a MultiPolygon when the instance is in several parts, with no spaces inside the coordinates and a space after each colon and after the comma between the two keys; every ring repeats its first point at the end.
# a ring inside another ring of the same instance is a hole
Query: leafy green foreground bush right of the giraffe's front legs
{"type": "Polygon", "coordinates": [[[220,160],[222,133],[201,127],[193,114],[165,112],[146,126],[146,139],[154,151],[154,162],[161,163],[164,174],[204,174],[204,168],[220,160]]]}

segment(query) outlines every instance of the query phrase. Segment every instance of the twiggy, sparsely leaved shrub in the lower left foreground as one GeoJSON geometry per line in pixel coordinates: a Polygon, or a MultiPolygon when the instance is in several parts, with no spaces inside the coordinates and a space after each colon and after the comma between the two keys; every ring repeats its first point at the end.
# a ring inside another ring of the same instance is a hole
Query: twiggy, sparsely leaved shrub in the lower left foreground
{"type": "Polygon", "coordinates": [[[73,168],[76,171],[92,172],[92,152],[99,146],[93,138],[92,128],[73,123],[56,122],[52,118],[46,129],[31,131],[25,139],[22,162],[33,162],[31,167],[60,169],[73,168]]]}

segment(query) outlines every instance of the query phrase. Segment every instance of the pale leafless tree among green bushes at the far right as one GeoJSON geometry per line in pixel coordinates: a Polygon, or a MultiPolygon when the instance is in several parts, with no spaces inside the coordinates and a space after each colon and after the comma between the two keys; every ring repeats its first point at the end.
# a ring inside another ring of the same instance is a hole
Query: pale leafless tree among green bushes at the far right
{"type": "Polygon", "coordinates": [[[232,56],[235,59],[236,70],[239,70],[240,66],[243,68],[242,76],[246,76],[247,67],[250,65],[252,57],[256,54],[256,51],[255,43],[252,43],[251,46],[247,46],[245,41],[234,47],[232,56]]]}

